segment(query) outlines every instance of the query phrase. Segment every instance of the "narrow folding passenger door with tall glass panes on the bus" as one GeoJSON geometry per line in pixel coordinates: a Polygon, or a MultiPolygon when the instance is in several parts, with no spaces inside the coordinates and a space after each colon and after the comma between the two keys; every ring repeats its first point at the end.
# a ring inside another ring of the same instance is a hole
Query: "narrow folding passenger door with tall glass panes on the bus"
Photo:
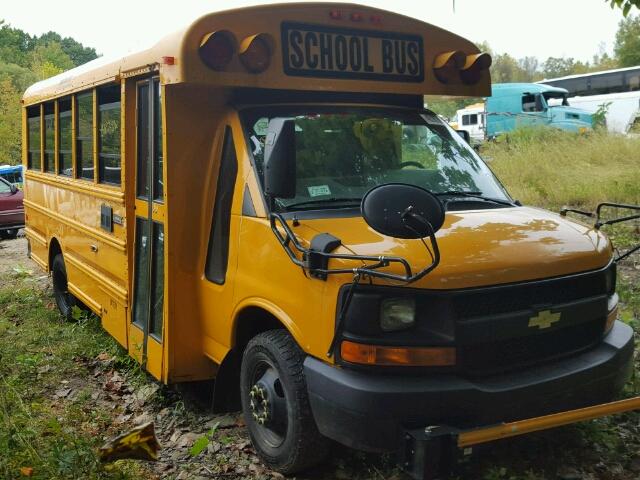
{"type": "Polygon", "coordinates": [[[163,372],[165,325],[165,190],[162,87],[136,83],[136,173],[133,301],[129,352],[154,377],[163,372]]]}

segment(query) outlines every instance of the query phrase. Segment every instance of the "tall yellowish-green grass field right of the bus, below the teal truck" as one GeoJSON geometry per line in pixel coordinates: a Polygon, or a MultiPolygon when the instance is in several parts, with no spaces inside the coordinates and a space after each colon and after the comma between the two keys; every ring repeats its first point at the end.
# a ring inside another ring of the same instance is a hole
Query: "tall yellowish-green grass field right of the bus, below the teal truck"
{"type": "Polygon", "coordinates": [[[640,203],[638,137],[530,128],[488,142],[481,154],[524,204],[558,210],[640,203]]]}

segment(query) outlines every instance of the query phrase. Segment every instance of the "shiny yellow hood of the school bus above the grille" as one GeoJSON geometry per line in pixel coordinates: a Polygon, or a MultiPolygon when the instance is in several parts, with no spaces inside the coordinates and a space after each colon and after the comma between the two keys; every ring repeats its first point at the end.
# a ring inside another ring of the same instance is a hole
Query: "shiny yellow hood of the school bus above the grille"
{"type": "MultiPolygon", "coordinates": [[[[419,240],[381,235],[361,217],[300,223],[303,228],[296,233],[306,237],[304,243],[316,233],[330,233],[355,254],[403,257],[414,273],[430,262],[419,240]]],[[[609,240],[599,231],[530,207],[448,212],[436,237],[440,264],[413,286],[469,288],[569,275],[604,267],[612,255],[609,240]]],[[[337,267],[337,262],[331,260],[329,266],[337,267]]]]}

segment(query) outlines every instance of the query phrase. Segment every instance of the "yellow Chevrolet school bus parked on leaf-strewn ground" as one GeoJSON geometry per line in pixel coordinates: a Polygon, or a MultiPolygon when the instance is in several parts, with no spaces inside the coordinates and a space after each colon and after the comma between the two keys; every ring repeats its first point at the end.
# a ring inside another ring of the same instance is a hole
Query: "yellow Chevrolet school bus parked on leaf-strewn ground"
{"type": "Polygon", "coordinates": [[[520,205],[423,108],[489,95],[490,64],[412,18],[305,3],[39,82],[31,258],[65,317],[93,311],[159,381],[215,379],[214,408],[242,408],[285,473],[332,439],[418,477],[442,432],[467,447],[608,401],[633,354],[611,243],[520,205]]]}

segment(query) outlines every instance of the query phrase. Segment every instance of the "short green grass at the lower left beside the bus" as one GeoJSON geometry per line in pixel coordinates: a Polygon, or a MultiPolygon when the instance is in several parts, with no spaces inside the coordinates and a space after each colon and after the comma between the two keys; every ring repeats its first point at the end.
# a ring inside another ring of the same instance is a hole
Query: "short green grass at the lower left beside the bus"
{"type": "Polygon", "coordinates": [[[138,464],[105,467],[96,456],[113,413],[90,401],[86,362],[107,352],[142,374],[95,317],[64,323],[34,282],[15,273],[0,288],[0,478],[140,478],[138,464]]]}

